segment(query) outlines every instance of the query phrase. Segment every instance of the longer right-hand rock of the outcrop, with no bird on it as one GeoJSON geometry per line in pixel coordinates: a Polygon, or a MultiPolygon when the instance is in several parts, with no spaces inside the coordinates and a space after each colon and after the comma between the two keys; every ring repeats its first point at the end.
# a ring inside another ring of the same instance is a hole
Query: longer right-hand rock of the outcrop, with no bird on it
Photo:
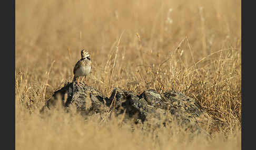
{"type": "Polygon", "coordinates": [[[126,113],[130,117],[137,113],[137,119],[141,122],[152,117],[157,120],[164,117],[162,123],[165,124],[167,122],[171,123],[175,119],[179,125],[186,127],[186,129],[201,133],[203,130],[198,123],[208,121],[206,113],[200,109],[200,105],[194,99],[186,97],[178,91],[159,94],[150,89],[144,91],[141,95],[135,95],[132,92],[114,88],[107,104],[112,103],[113,100],[116,101],[115,110],[126,109],[126,113]],[[172,116],[166,115],[168,112],[172,116]]]}

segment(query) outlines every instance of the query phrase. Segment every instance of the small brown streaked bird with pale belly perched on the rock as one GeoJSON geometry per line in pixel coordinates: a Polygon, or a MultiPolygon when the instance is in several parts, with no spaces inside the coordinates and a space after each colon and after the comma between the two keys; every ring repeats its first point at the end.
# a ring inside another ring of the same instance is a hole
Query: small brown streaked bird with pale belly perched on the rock
{"type": "Polygon", "coordinates": [[[86,85],[88,86],[88,83],[86,81],[86,76],[91,72],[92,69],[92,61],[90,58],[90,54],[88,53],[87,49],[82,49],[81,50],[81,59],[78,60],[75,64],[73,73],[74,73],[74,78],[73,82],[76,81],[76,84],[80,85],[78,83],[78,79],[82,76],[84,76],[86,85]]]}

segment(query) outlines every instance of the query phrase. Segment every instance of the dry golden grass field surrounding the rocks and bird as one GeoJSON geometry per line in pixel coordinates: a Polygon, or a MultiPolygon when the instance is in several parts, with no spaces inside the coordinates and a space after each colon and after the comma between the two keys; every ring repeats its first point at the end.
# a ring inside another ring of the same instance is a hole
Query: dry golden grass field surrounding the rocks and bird
{"type": "Polygon", "coordinates": [[[241,1],[19,0],[15,7],[16,149],[241,149],[241,1]],[[93,62],[89,85],[107,97],[114,87],[181,91],[212,118],[212,138],[62,109],[40,114],[72,81],[82,48],[93,62]]]}

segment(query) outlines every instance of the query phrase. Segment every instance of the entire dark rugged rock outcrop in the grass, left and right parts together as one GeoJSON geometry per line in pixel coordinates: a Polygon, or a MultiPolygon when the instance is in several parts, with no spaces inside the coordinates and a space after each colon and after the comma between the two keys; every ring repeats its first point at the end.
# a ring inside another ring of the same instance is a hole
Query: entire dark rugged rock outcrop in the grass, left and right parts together
{"type": "Polygon", "coordinates": [[[46,102],[41,111],[56,105],[57,97],[60,97],[64,108],[74,104],[84,115],[111,111],[117,116],[125,113],[124,121],[134,119],[135,123],[144,123],[153,119],[158,125],[159,122],[165,125],[176,120],[179,125],[192,133],[201,133],[203,129],[199,124],[208,121],[206,113],[194,99],[174,90],[160,94],[149,89],[136,95],[130,91],[114,88],[110,98],[107,98],[95,88],[87,87],[83,83],[78,86],[68,82],[63,88],[54,92],[53,97],[46,102]]]}

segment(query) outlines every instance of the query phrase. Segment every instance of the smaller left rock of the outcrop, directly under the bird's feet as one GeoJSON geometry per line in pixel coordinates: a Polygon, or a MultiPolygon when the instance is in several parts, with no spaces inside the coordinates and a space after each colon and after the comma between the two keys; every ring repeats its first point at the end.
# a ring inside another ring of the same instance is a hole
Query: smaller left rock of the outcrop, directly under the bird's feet
{"type": "Polygon", "coordinates": [[[53,97],[46,101],[41,112],[44,112],[46,108],[51,109],[55,106],[58,97],[61,99],[64,108],[72,103],[76,106],[78,111],[86,115],[101,113],[106,109],[105,103],[106,100],[108,101],[108,98],[104,97],[104,95],[95,88],[87,87],[83,83],[78,86],[75,83],[68,82],[63,88],[54,92],[53,97]]]}

